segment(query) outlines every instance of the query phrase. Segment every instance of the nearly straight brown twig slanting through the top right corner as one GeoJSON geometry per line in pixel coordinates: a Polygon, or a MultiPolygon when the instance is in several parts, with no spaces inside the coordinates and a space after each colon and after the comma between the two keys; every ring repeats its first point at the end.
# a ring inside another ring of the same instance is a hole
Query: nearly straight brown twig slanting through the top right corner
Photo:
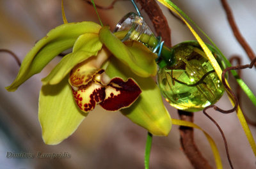
{"type": "MultiPolygon", "coordinates": [[[[230,27],[234,33],[234,36],[236,37],[236,40],[240,43],[240,45],[244,48],[244,51],[246,52],[246,54],[248,55],[248,57],[251,59],[251,61],[253,61],[253,59],[255,58],[255,54],[253,53],[252,48],[250,47],[250,45],[248,45],[248,43],[246,42],[246,40],[244,40],[242,34],[240,33],[236,22],[234,20],[234,16],[232,14],[232,11],[230,9],[230,7],[228,6],[228,3],[226,0],[221,0],[221,4],[227,14],[227,18],[228,18],[228,23],[230,24],[230,27]]],[[[256,63],[255,63],[256,66],[256,63]]],[[[255,67],[256,68],[256,67],[255,67]]]]}

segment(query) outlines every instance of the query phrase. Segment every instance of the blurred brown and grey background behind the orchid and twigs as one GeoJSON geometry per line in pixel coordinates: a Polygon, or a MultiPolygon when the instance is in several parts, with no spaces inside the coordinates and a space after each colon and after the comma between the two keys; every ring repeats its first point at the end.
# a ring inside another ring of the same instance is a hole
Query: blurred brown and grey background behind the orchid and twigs
{"type": "MultiPolygon", "coordinates": [[[[95,3],[108,6],[112,1],[95,0],[95,3]]],[[[228,58],[237,54],[243,59],[243,64],[250,63],[232,34],[220,1],[173,0],[173,3],[184,10],[228,58]]],[[[228,3],[241,33],[256,52],[256,1],[232,0],[228,3]]],[[[160,6],[172,30],[172,44],[193,40],[188,28],[161,4],[160,6]]],[[[134,11],[130,1],[118,1],[111,10],[99,10],[99,15],[102,22],[113,29],[118,20],[129,11],[134,11]]],[[[99,23],[93,7],[83,0],[65,1],[65,13],[68,22],[90,20],[99,23]]],[[[143,15],[147,18],[145,13],[143,15]]],[[[0,0],[0,48],[12,50],[22,60],[37,40],[62,23],[60,0],[0,0]]],[[[41,73],[30,78],[16,92],[7,92],[4,87],[12,83],[19,66],[9,54],[0,53],[0,168],[143,168],[147,131],[132,124],[119,112],[106,112],[100,107],[90,112],[67,140],[59,145],[44,144],[37,115],[40,79],[45,77],[60,59],[56,57],[41,73]],[[6,158],[7,152],[67,152],[71,154],[71,158],[6,158]]],[[[255,68],[242,72],[244,82],[256,94],[255,68]]],[[[232,78],[230,84],[235,84],[232,78]]],[[[242,100],[244,114],[256,122],[255,107],[244,94],[242,100]]],[[[177,110],[168,103],[165,104],[170,115],[178,119],[177,110]]],[[[232,107],[227,94],[224,94],[216,105],[226,110],[232,107]]],[[[234,167],[256,168],[255,156],[236,114],[223,115],[213,110],[209,112],[227,137],[234,167]]],[[[223,140],[216,126],[202,112],[195,113],[195,123],[205,129],[216,142],[223,168],[230,168],[223,140]]],[[[250,129],[256,138],[255,126],[250,126],[250,129]]],[[[179,126],[173,126],[167,137],[153,138],[150,168],[193,168],[182,152],[179,138],[179,126]]],[[[195,130],[195,141],[204,157],[214,167],[212,151],[202,131],[195,130]]]]}

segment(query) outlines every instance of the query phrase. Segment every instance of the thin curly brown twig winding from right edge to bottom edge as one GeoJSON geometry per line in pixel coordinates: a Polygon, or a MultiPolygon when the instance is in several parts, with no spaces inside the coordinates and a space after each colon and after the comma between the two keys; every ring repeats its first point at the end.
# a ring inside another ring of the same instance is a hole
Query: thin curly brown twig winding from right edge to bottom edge
{"type": "Polygon", "coordinates": [[[227,73],[227,71],[230,71],[230,70],[242,70],[242,69],[245,69],[245,68],[252,68],[253,67],[253,64],[255,64],[256,62],[256,57],[253,59],[253,61],[250,63],[250,64],[246,64],[246,65],[242,65],[242,66],[232,66],[232,67],[229,67],[229,68],[226,68],[222,75],[221,75],[221,79],[222,79],[222,82],[223,82],[223,85],[225,86],[225,88],[227,89],[228,93],[230,95],[232,95],[232,98],[235,100],[235,105],[233,108],[231,108],[230,110],[222,110],[221,108],[219,107],[216,107],[216,105],[211,105],[209,107],[205,107],[203,112],[204,114],[209,118],[211,119],[212,122],[214,122],[214,124],[217,126],[217,128],[219,129],[220,133],[221,133],[221,136],[223,138],[223,141],[225,143],[225,149],[226,149],[226,153],[227,153],[227,158],[228,158],[228,162],[230,164],[230,167],[233,169],[233,165],[232,165],[232,162],[231,162],[231,159],[230,159],[230,155],[229,155],[229,152],[228,152],[228,145],[227,145],[227,140],[225,138],[225,135],[222,131],[222,129],[220,128],[219,124],[214,121],[214,119],[212,119],[212,117],[210,115],[208,115],[206,113],[206,110],[209,109],[209,108],[214,108],[214,110],[218,111],[218,112],[221,112],[223,114],[230,114],[232,112],[234,112],[236,109],[237,109],[237,106],[238,106],[238,99],[236,97],[236,94],[234,94],[234,92],[232,91],[232,89],[230,89],[230,87],[228,87],[227,85],[227,82],[225,80],[225,73],[227,73]]]}

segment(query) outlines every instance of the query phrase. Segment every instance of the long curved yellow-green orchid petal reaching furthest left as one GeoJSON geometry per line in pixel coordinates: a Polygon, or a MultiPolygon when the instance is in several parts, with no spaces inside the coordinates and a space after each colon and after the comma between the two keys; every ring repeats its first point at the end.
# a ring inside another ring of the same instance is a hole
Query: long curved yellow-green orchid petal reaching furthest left
{"type": "Polygon", "coordinates": [[[14,82],[6,87],[15,91],[29,77],[42,69],[58,54],[71,48],[78,36],[84,33],[98,33],[100,26],[94,22],[79,22],[63,24],[52,29],[47,36],[38,41],[26,55],[20,66],[20,71],[14,82]]]}

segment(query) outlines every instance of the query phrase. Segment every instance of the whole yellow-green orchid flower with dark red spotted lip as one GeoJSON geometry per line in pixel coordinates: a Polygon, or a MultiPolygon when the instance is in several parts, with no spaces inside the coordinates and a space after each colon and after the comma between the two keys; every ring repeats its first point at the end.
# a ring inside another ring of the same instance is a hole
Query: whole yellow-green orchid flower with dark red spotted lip
{"type": "Polygon", "coordinates": [[[45,143],[57,144],[70,136],[97,104],[109,111],[121,109],[153,135],[168,135],[170,115],[152,79],[156,55],[138,41],[123,43],[109,27],[94,22],[52,29],[29,51],[6,89],[15,91],[72,47],[72,53],[42,79],[38,114],[45,143]]]}

